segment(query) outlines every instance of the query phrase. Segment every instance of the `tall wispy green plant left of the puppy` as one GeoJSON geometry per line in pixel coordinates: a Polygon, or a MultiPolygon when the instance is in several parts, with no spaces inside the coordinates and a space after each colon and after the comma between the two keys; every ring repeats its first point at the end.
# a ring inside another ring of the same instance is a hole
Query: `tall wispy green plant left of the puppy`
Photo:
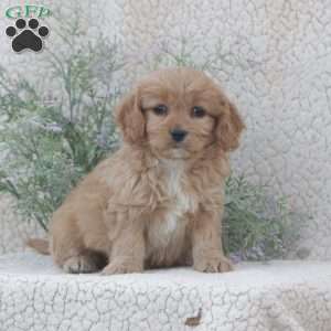
{"type": "Polygon", "coordinates": [[[40,63],[47,70],[42,77],[47,86],[0,68],[0,148],[6,156],[0,190],[17,197],[22,218],[45,229],[79,178],[117,146],[111,120],[120,94],[114,84],[121,68],[117,45],[103,39],[79,45],[74,29],[63,50],[49,50],[40,63]]]}

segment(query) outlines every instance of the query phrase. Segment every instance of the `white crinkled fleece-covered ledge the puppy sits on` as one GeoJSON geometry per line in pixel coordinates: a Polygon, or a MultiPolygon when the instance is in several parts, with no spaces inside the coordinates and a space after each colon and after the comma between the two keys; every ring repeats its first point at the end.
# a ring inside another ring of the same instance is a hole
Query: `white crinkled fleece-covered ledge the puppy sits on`
{"type": "Polygon", "coordinates": [[[103,277],[60,275],[50,257],[0,257],[1,330],[313,330],[331,325],[331,264],[243,264],[103,277]]]}

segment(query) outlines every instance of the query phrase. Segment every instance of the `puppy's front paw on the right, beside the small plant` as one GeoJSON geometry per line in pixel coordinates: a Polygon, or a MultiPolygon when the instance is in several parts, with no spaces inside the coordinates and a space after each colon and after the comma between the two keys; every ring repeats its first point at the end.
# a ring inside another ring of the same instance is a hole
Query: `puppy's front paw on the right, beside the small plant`
{"type": "Polygon", "coordinates": [[[200,258],[194,261],[193,268],[202,273],[228,273],[234,269],[231,260],[222,255],[200,258]]]}

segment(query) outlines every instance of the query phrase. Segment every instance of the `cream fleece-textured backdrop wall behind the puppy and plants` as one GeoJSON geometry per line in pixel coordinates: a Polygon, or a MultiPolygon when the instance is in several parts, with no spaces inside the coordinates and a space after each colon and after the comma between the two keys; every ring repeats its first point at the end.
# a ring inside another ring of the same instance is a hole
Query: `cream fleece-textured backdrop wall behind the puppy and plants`
{"type": "MultiPolygon", "coordinates": [[[[2,33],[0,64],[23,75],[44,73],[42,54],[13,54],[2,33]]],[[[64,2],[64,1],[63,1],[64,2]]],[[[51,9],[60,1],[34,1],[51,9]]],[[[66,4],[67,6],[67,4],[66,4]]],[[[72,1],[92,36],[124,45],[128,82],[152,68],[161,51],[185,50],[209,68],[237,104],[247,125],[234,171],[289,195],[307,225],[301,248],[331,258],[331,4],[327,0],[72,1]]],[[[54,20],[47,20],[50,29],[54,20]]],[[[50,35],[47,47],[61,47],[50,35]]],[[[126,82],[127,82],[126,81],[126,82]]],[[[126,83],[127,84],[127,83],[126,83]]],[[[4,220],[1,213],[0,220],[4,220]]],[[[4,221],[0,221],[4,222],[4,221]]],[[[0,241],[2,239],[0,234],[0,241]]]]}

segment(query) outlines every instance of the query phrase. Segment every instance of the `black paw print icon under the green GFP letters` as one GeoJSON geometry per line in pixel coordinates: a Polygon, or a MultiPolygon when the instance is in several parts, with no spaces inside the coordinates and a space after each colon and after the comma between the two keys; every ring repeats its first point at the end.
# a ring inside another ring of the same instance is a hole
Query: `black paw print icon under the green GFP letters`
{"type": "Polygon", "coordinates": [[[24,19],[18,19],[15,26],[8,26],[6,34],[12,38],[12,49],[20,53],[23,50],[39,52],[43,49],[43,39],[47,36],[50,30],[47,26],[40,26],[36,19],[30,19],[26,25],[24,19]]]}

